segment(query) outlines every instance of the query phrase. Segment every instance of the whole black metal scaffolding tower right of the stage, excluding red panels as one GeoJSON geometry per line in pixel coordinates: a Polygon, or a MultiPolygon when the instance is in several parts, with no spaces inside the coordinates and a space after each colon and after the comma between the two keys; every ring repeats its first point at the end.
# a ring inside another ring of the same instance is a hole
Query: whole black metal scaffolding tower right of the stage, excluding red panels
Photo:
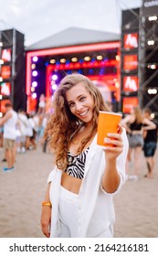
{"type": "MultiPolygon", "coordinates": [[[[136,95],[139,99],[140,107],[142,109],[150,108],[155,118],[158,119],[158,60],[156,60],[158,59],[158,16],[155,15],[155,18],[150,21],[149,16],[152,16],[152,14],[146,15],[146,13],[144,13],[144,2],[145,1],[142,1],[142,7],[139,8],[139,12],[136,12],[136,9],[126,10],[132,14],[132,20],[130,20],[130,17],[127,18],[127,22],[121,26],[121,55],[123,55],[129,53],[123,48],[123,34],[136,31],[137,27],[134,26],[134,23],[139,23],[137,31],[139,35],[139,47],[137,49],[139,90],[135,94],[134,92],[124,92],[122,91],[121,84],[121,100],[123,96],[136,95]],[[133,18],[133,16],[135,16],[135,18],[133,18]]],[[[148,1],[148,3],[149,2],[153,1],[148,1]]],[[[158,8],[158,6],[156,7],[158,8]]],[[[153,15],[154,12],[155,8],[153,8],[153,15]]],[[[122,61],[123,57],[121,56],[121,62],[122,61]]],[[[131,75],[130,72],[129,75],[131,75]]],[[[127,73],[123,70],[122,64],[121,76],[127,76],[127,73]]]]}

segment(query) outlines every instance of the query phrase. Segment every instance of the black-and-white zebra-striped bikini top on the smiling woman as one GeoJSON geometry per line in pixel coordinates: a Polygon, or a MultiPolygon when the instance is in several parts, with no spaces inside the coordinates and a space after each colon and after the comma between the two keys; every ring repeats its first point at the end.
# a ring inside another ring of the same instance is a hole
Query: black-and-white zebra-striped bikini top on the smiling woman
{"type": "Polygon", "coordinates": [[[84,171],[85,171],[85,164],[86,164],[86,157],[88,155],[90,147],[88,147],[85,151],[81,152],[79,155],[71,155],[68,151],[68,165],[65,172],[68,176],[74,176],[79,179],[83,179],[84,171]]]}

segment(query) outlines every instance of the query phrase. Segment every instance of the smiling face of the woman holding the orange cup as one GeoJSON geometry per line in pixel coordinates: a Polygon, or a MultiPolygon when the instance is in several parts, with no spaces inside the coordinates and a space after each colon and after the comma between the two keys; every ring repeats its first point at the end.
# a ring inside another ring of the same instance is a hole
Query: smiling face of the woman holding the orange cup
{"type": "Polygon", "coordinates": [[[79,82],[66,92],[70,112],[84,123],[93,118],[94,101],[83,82],[79,82]]]}

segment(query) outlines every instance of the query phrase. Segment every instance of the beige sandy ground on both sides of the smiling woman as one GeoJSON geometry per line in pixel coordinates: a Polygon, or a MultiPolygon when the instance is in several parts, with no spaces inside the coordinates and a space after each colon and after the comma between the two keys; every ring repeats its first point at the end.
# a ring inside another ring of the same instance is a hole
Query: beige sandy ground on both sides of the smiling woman
{"type": "MultiPolygon", "coordinates": [[[[114,197],[115,237],[158,237],[158,150],[153,179],[144,178],[146,165],[141,157],[140,178],[127,181],[114,197]]],[[[0,159],[3,150],[0,148],[0,159]]],[[[5,163],[0,162],[0,168],[5,163]]],[[[40,211],[52,156],[36,151],[17,155],[14,172],[0,171],[0,237],[42,238],[40,211]]],[[[132,172],[132,166],[131,166],[132,172]]]]}

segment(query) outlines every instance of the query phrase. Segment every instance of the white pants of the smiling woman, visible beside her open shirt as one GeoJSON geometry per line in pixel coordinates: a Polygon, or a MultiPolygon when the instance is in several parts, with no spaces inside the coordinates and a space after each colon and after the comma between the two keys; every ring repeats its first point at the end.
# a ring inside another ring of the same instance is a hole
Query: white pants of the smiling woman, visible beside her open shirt
{"type": "MultiPolygon", "coordinates": [[[[59,238],[78,238],[79,237],[79,195],[72,193],[61,187],[59,196],[59,222],[60,222],[60,233],[59,238]]],[[[102,237],[111,238],[113,231],[111,226],[100,235],[88,234],[88,237],[102,237]]]]}

